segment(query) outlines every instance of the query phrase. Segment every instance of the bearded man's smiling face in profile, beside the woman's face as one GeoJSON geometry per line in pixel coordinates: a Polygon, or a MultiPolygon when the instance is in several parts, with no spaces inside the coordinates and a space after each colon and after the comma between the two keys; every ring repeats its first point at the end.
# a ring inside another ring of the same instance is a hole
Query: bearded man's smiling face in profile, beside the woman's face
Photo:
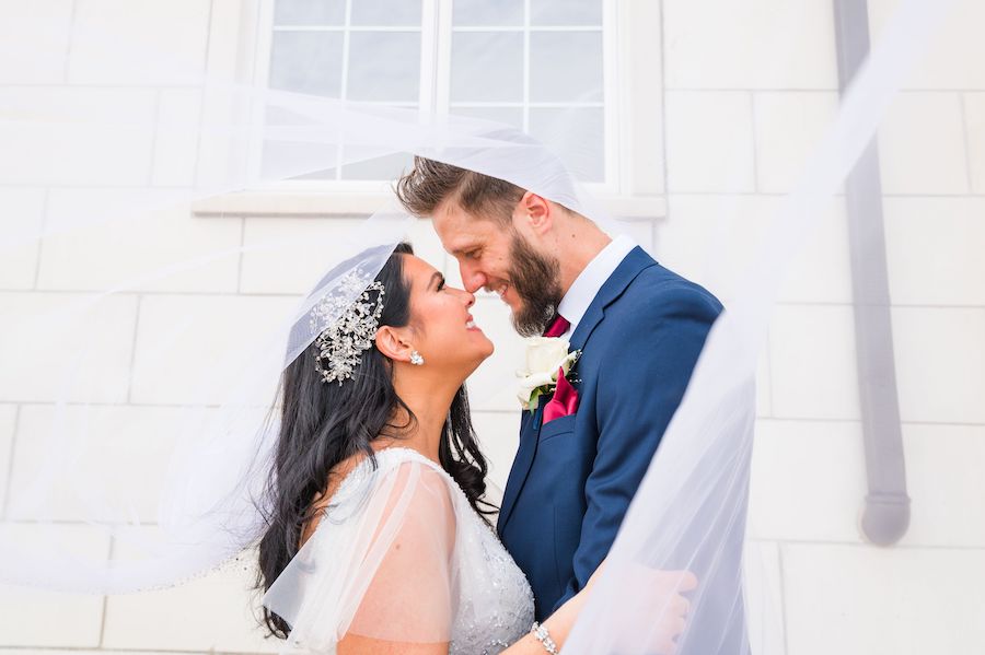
{"type": "Polygon", "coordinates": [[[444,249],[459,262],[465,289],[499,295],[521,335],[543,334],[564,295],[557,258],[541,253],[513,219],[475,217],[451,202],[440,206],[432,218],[444,249]]]}

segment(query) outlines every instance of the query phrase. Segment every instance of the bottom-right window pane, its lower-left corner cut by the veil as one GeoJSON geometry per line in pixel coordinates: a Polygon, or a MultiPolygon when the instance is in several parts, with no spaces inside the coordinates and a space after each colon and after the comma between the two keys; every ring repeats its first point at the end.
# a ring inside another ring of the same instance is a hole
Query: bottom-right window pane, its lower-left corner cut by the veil
{"type": "Polygon", "coordinates": [[[530,134],[546,143],[582,182],[605,179],[602,107],[530,109],[530,134]],[[572,134],[578,134],[572,139],[572,134]]]}

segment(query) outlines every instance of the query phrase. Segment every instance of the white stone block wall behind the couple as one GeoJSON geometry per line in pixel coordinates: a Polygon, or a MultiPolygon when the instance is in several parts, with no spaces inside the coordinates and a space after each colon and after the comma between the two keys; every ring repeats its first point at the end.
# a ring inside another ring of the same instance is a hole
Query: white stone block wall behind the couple
{"type": "MultiPolygon", "coordinates": [[[[16,4],[0,0],[0,12],[16,4]]],[[[895,2],[869,4],[878,33],[895,2]]],[[[839,201],[825,209],[823,225],[798,257],[763,358],[751,531],[775,583],[790,655],[985,648],[985,482],[980,473],[985,464],[985,264],[980,255],[985,245],[985,40],[977,36],[985,5],[977,0],[959,4],[880,131],[913,498],[912,527],[899,546],[869,546],[856,525],[865,461],[839,201]]],[[[208,5],[205,0],[32,0],[37,11],[66,25],[99,12],[138,12],[149,38],[186,44],[186,63],[193,67],[205,66],[208,5]]],[[[654,74],[662,69],[665,83],[667,166],[658,188],[665,191],[668,215],[635,220],[627,229],[663,264],[728,302],[737,272],[835,112],[832,8],[826,0],[663,0],[661,15],[662,34],[654,38],[662,36],[664,57],[653,67],[654,74]],[[787,36],[777,40],[777,35],[787,36]]],[[[0,54],[2,34],[0,22],[0,54]]],[[[50,61],[32,67],[31,79],[20,62],[0,56],[0,85],[68,80],[104,86],[127,110],[182,115],[196,109],[194,94],[157,95],[132,86],[154,80],[155,71],[100,55],[97,43],[73,44],[70,66],[63,55],[53,54],[50,61]]],[[[115,161],[142,156],[149,169],[120,166],[103,173],[117,175],[120,184],[148,175],[181,183],[187,172],[155,165],[162,160],[154,149],[186,147],[169,140],[132,143],[132,151],[118,153],[115,161]]],[[[0,187],[3,214],[36,224],[82,201],[99,206],[100,199],[71,189],[0,187]]],[[[114,424],[127,424],[139,433],[141,447],[166,452],[174,406],[187,399],[183,381],[166,375],[167,366],[179,370],[182,362],[162,361],[155,350],[173,317],[217,304],[225,317],[209,327],[207,339],[176,343],[172,352],[178,358],[201,356],[209,339],[229,338],[244,321],[273,325],[321,272],[318,244],[357,220],[196,218],[175,211],[139,225],[114,222],[89,231],[83,242],[56,237],[42,247],[4,254],[0,362],[35,358],[38,370],[59,364],[56,353],[20,350],[11,316],[84,297],[118,277],[136,277],[169,261],[279,236],[310,236],[309,252],[245,252],[120,293],[79,325],[80,341],[92,347],[88,361],[100,365],[92,370],[92,384],[73,390],[70,400],[100,408],[96,425],[108,447],[119,447],[113,442],[121,437],[114,424]],[[143,247],[149,242],[155,244],[150,252],[143,247]]],[[[417,225],[413,242],[456,280],[453,262],[426,222],[417,225]]],[[[497,344],[470,390],[493,460],[491,479],[502,486],[517,447],[511,379],[521,349],[498,300],[480,297],[474,313],[497,344]]],[[[44,456],[33,447],[32,434],[54,418],[50,393],[50,385],[37,381],[0,376],[0,470],[28,475],[31,463],[44,456]]],[[[147,511],[161,475],[149,471],[143,480],[146,498],[137,503],[147,511]]],[[[3,493],[0,486],[0,500],[3,493]]],[[[78,524],[70,496],[56,514],[63,524],[59,530],[78,549],[108,552],[105,537],[78,524]]],[[[36,535],[25,527],[24,539],[32,538],[36,535]]],[[[252,618],[248,577],[231,570],[171,590],[108,598],[2,588],[0,651],[269,652],[274,644],[260,639],[252,618]]]]}

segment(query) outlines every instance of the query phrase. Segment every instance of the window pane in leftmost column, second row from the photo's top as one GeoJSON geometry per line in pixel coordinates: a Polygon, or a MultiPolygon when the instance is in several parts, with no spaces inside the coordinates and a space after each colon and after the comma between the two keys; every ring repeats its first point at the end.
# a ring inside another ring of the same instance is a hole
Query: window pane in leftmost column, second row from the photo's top
{"type": "Polygon", "coordinates": [[[270,86],[338,97],[341,49],[340,32],[275,32],[270,86]]]}

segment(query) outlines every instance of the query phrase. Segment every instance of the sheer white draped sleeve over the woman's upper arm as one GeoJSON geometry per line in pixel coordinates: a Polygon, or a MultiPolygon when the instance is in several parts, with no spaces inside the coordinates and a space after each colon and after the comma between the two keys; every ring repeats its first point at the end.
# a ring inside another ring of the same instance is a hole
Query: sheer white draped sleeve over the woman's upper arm
{"type": "Polygon", "coordinates": [[[286,651],[335,652],[347,635],[447,643],[455,514],[443,475],[418,461],[370,473],[264,596],[291,625],[286,651]]]}

